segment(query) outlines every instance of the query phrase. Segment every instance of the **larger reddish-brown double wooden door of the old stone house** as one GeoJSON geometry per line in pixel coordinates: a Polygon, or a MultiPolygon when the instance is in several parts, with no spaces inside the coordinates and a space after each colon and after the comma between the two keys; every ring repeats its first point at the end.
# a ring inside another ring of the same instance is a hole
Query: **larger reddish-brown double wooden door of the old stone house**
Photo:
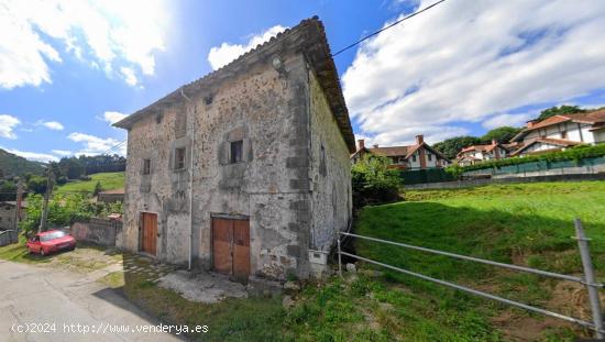
{"type": "Polygon", "coordinates": [[[250,276],[250,222],[212,219],[212,256],[215,269],[248,283],[250,276]]]}

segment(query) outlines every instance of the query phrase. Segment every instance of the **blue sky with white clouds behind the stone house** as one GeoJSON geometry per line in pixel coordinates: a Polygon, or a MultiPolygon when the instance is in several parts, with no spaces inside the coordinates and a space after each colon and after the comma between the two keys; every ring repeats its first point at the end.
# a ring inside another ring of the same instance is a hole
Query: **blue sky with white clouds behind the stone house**
{"type": "MultiPolygon", "coordinates": [[[[0,0],[0,147],[105,152],[125,139],[111,121],[251,42],[318,15],[337,51],[430,2],[0,0]]],[[[553,104],[604,106],[605,10],[581,2],[448,0],[337,56],[356,135],[435,143],[553,104]]]]}

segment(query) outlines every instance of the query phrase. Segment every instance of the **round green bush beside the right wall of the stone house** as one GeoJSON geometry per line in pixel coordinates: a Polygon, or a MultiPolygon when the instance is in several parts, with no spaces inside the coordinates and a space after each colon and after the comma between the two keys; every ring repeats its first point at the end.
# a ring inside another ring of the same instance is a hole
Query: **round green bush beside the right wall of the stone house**
{"type": "Polygon", "coordinates": [[[353,165],[351,173],[355,208],[399,199],[403,187],[399,170],[388,168],[388,165],[387,157],[369,154],[353,165]]]}

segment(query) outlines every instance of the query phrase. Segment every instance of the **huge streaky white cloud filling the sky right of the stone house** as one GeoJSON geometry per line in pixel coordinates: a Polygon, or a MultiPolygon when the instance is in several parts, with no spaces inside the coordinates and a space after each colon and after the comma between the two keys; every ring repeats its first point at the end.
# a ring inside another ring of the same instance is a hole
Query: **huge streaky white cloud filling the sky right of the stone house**
{"type": "Polygon", "coordinates": [[[359,133],[385,142],[518,124],[524,106],[605,87],[603,27],[598,0],[447,1],[363,43],[344,96],[359,133]]]}

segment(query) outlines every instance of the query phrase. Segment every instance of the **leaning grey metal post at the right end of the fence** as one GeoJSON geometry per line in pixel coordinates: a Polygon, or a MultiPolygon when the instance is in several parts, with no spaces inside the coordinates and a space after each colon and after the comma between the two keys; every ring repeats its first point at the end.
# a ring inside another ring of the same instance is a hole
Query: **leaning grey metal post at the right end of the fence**
{"type": "Polygon", "coordinates": [[[598,288],[594,278],[593,262],[591,260],[591,253],[588,251],[590,239],[584,235],[584,229],[582,228],[582,221],[580,219],[574,220],[575,225],[575,239],[578,240],[578,246],[580,247],[580,256],[582,257],[582,267],[584,268],[584,282],[586,289],[588,290],[588,300],[591,302],[591,310],[593,313],[593,322],[596,331],[596,338],[603,339],[603,313],[601,312],[601,301],[598,299],[598,288]]]}

